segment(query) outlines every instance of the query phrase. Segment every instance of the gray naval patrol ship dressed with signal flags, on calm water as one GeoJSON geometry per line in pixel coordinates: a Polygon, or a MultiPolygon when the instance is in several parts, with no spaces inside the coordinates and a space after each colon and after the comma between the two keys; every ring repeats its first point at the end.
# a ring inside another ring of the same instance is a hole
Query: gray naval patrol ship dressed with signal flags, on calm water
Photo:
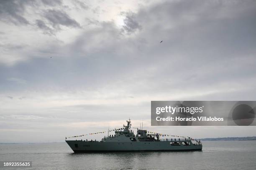
{"type": "Polygon", "coordinates": [[[129,152],[129,151],[192,151],[202,150],[200,141],[192,143],[191,138],[161,138],[161,135],[150,134],[147,130],[131,130],[131,120],[126,120],[122,130],[115,130],[115,135],[108,135],[101,141],[67,140],[74,153],[90,152],[129,152]]]}

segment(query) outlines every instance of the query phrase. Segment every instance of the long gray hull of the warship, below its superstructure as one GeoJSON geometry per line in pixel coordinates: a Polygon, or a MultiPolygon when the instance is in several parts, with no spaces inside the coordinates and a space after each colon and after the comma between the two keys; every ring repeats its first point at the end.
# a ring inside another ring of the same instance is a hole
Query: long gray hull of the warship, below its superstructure
{"type": "Polygon", "coordinates": [[[74,153],[92,152],[132,152],[132,151],[193,151],[202,150],[202,145],[172,145],[170,141],[145,142],[87,142],[81,140],[66,140],[74,153]]]}

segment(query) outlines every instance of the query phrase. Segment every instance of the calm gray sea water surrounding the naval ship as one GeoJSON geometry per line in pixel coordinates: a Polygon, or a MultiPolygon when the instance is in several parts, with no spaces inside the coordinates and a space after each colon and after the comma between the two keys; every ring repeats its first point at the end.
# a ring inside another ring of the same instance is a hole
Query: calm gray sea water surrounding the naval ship
{"type": "Polygon", "coordinates": [[[32,161],[18,170],[256,170],[256,141],[203,141],[193,152],[79,154],[66,143],[0,144],[0,161],[14,160],[32,161]]]}

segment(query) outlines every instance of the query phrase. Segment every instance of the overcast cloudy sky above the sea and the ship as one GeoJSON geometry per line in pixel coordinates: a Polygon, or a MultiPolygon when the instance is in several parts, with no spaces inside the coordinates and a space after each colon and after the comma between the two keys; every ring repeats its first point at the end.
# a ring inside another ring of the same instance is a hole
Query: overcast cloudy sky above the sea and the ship
{"type": "Polygon", "coordinates": [[[255,45],[253,0],[1,0],[0,142],[62,142],[129,117],[193,138],[256,135],[150,126],[151,100],[255,100],[255,45]]]}

